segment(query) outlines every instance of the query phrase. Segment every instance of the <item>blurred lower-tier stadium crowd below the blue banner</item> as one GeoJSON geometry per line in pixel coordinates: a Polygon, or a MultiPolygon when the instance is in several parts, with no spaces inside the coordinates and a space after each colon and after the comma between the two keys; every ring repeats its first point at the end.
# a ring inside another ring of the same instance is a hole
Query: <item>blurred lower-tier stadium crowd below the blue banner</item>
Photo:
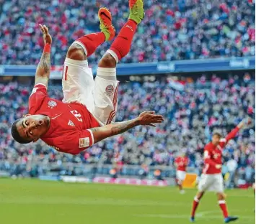
{"type": "MultiPolygon", "coordinates": [[[[168,166],[182,153],[190,158],[190,167],[200,169],[203,146],[210,141],[213,131],[226,135],[242,118],[255,117],[255,80],[248,73],[243,79],[234,75],[221,79],[213,75],[211,80],[206,80],[202,75],[197,81],[182,85],[183,90],[175,90],[168,79],[121,84],[118,121],[135,118],[141,111],[154,110],[166,118],[164,123],[156,128],[137,126],[72,156],[58,153],[42,141],[26,145],[15,143],[10,126],[16,118],[27,113],[32,86],[0,84],[0,161],[4,160],[7,168],[9,161],[27,164],[32,159],[46,165],[74,162],[168,166]]],[[[61,99],[61,85],[50,85],[48,93],[61,99]]],[[[231,159],[237,162],[241,174],[252,177],[255,167],[254,125],[240,131],[237,139],[226,146],[225,163],[231,159]]]]}

